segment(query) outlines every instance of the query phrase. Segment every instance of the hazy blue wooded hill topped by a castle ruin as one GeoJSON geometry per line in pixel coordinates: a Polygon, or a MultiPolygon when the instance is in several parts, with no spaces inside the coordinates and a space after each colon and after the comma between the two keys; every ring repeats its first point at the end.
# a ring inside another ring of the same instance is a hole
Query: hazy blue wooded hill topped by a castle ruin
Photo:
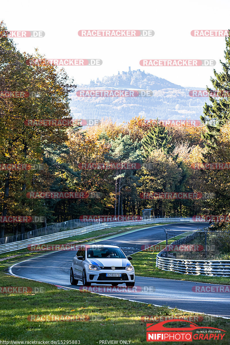
{"type": "Polygon", "coordinates": [[[70,106],[74,118],[111,118],[122,123],[143,115],[146,119],[200,119],[208,97],[191,97],[189,91],[205,90],[182,87],[144,71],[129,68],[128,72],[91,80],[89,85],[78,85],[70,93],[70,106]],[[77,90],[152,90],[151,97],[78,97],[77,90]]]}

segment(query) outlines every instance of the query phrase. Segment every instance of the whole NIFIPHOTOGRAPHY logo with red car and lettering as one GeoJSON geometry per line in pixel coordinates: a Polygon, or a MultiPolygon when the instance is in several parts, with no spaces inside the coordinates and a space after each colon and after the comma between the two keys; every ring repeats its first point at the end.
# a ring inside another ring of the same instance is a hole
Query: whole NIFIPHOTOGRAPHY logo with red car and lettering
{"type": "Polygon", "coordinates": [[[192,342],[192,340],[211,340],[217,339],[222,340],[226,332],[223,329],[214,328],[214,327],[202,327],[198,326],[189,321],[187,322],[188,327],[170,327],[170,323],[173,322],[181,322],[181,319],[173,319],[173,320],[166,320],[159,322],[157,324],[146,324],[147,327],[147,334],[146,340],[147,342],[192,342]],[[169,326],[164,326],[165,324],[169,324],[169,326]],[[197,329],[202,329],[202,331],[197,331],[197,329]],[[196,333],[192,334],[192,331],[196,331],[196,333]]]}

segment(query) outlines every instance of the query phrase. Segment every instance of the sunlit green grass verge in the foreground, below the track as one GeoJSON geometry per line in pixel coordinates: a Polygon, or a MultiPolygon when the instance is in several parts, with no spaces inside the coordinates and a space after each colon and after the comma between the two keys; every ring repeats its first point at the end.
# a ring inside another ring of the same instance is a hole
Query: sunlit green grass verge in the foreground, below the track
{"type": "MultiPolygon", "coordinates": [[[[173,316],[173,318],[197,315],[166,306],[156,307],[87,291],[62,290],[45,283],[21,279],[0,272],[1,286],[43,287],[43,293],[0,294],[1,340],[51,341],[80,340],[80,344],[97,345],[100,340],[130,340],[130,344],[146,342],[146,323],[141,316],[173,316]],[[34,322],[30,315],[87,315],[89,321],[34,322]]],[[[210,317],[209,317],[210,318],[210,317]]],[[[154,321],[150,321],[154,323],[154,321]]],[[[212,318],[212,321],[195,322],[200,326],[221,328],[230,332],[229,320],[212,318]]],[[[177,326],[185,326],[181,322],[177,326]]],[[[196,341],[206,344],[206,341],[196,341]]],[[[208,343],[208,341],[207,341],[208,343]]],[[[164,344],[164,342],[159,342],[164,344]]],[[[172,342],[170,344],[173,344],[172,342]]],[[[181,343],[182,344],[182,343],[181,343]]],[[[212,341],[212,344],[217,344],[212,341]]],[[[218,343],[219,344],[219,343],[218,343]]],[[[228,344],[223,338],[221,344],[228,344]]]]}

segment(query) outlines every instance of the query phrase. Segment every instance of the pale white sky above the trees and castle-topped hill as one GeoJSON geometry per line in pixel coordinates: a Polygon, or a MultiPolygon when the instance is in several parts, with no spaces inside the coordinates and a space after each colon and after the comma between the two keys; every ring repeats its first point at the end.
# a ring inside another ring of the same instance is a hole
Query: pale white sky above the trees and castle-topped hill
{"type": "Polygon", "coordinates": [[[194,29],[230,28],[228,0],[1,1],[8,30],[42,30],[43,38],[15,38],[17,48],[48,59],[102,59],[101,66],[65,67],[76,84],[141,69],[189,87],[211,86],[213,67],[142,67],[141,59],[214,59],[221,71],[223,37],[192,37],[194,29]],[[153,37],[79,37],[84,29],[154,30],[153,37]]]}

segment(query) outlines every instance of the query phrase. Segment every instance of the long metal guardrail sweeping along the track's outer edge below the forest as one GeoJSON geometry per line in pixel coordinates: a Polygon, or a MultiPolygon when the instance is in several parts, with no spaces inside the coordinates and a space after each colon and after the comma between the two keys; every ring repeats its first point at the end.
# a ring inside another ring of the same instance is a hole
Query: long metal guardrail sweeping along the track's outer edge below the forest
{"type": "Polygon", "coordinates": [[[113,228],[115,226],[124,226],[124,225],[141,225],[141,224],[155,224],[155,223],[179,223],[179,222],[194,222],[192,218],[154,218],[146,220],[131,220],[131,221],[116,221],[110,223],[101,223],[91,226],[86,226],[80,229],[73,229],[68,231],[62,231],[60,233],[54,233],[45,236],[33,237],[23,241],[8,243],[0,245],[0,254],[12,252],[13,250],[19,250],[27,248],[31,245],[44,244],[52,241],[57,241],[58,239],[72,237],[76,235],[82,235],[90,233],[95,230],[102,230],[107,228],[113,228]]]}

